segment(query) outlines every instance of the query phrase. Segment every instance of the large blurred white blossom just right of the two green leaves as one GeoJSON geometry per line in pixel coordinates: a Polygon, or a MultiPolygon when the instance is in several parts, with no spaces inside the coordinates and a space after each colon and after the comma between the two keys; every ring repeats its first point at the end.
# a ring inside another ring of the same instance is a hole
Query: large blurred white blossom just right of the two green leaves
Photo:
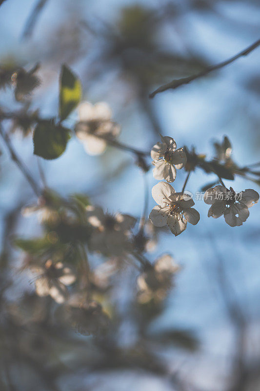
{"type": "Polygon", "coordinates": [[[103,153],[107,146],[105,139],[114,139],[119,135],[120,127],[111,120],[111,115],[111,109],[105,102],[80,104],[76,135],[90,155],[103,153]]]}

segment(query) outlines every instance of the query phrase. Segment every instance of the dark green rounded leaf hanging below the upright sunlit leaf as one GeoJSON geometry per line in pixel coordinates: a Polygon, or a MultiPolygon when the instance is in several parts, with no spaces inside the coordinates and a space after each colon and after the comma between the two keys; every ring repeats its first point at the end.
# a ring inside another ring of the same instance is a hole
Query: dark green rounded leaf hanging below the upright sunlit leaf
{"type": "Polygon", "coordinates": [[[33,135],[34,154],[44,159],[56,159],[66,149],[69,130],[55,125],[52,120],[42,120],[33,135]]]}

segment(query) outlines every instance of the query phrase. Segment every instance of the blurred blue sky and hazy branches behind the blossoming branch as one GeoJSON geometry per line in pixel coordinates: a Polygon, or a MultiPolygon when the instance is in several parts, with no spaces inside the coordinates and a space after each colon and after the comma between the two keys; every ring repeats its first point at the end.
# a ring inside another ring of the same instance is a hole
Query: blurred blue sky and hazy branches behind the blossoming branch
{"type": "MultiPolygon", "coordinates": [[[[210,159],[215,156],[213,143],[227,135],[236,163],[259,161],[260,49],[149,99],[149,93],[163,83],[223,61],[257,41],[259,1],[5,0],[0,5],[0,37],[2,67],[16,64],[29,70],[40,64],[41,83],[28,105],[43,118],[57,116],[60,66],[65,63],[80,78],[83,100],[105,101],[112,108],[122,129],[120,142],[150,151],[161,133],[173,137],[178,148],[194,146],[210,159]]],[[[24,103],[6,88],[0,89],[0,107],[15,111],[24,103]]],[[[66,126],[72,127],[77,119],[75,110],[66,126]]],[[[147,218],[155,205],[150,190],[157,181],[151,170],[144,181],[131,153],[109,147],[101,156],[89,156],[72,138],[60,158],[46,161],[33,155],[31,134],[24,137],[15,131],[11,137],[36,181],[42,179],[40,165],[47,186],[63,197],[84,194],[104,211],[137,219],[144,211],[147,189],[147,218]]],[[[14,306],[24,295],[33,297],[34,285],[20,272],[24,254],[11,246],[11,239],[39,237],[42,228],[36,215],[21,216],[21,208],[36,203],[36,197],[4,145],[0,149],[1,251],[8,253],[12,264],[8,278],[2,273],[1,296],[14,306]],[[12,281],[8,288],[5,279],[12,281]]],[[[176,191],[185,175],[178,171],[176,191]]],[[[214,174],[196,170],[186,189],[195,195],[214,180],[214,174]]],[[[238,176],[225,184],[238,192],[248,188],[259,192],[257,184],[238,176]]],[[[100,350],[93,353],[92,345],[102,344],[96,337],[74,332],[65,336],[66,349],[57,335],[55,344],[45,335],[31,346],[32,335],[26,331],[24,335],[22,326],[19,332],[4,326],[3,311],[1,389],[259,390],[259,206],[250,209],[242,226],[232,228],[221,217],[208,218],[202,200],[195,202],[198,225],[189,225],[178,237],[166,230],[154,233],[153,252],[147,258],[170,253],[180,271],[163,306],[149,322],[146,319],[153,338],[145,342],[143,356],[138,352],[131,359],[115,358],[117,349],[125,357],[124,352],[133,352],[140,340],[130,310],[137,277],[128,265],[113,293],[121,323],[106,355],[100,350]],[[157,335],[165,337],[164,343],[159,344],[157,335]],[[22,349],[28,349],[27,362],[23,353],[18,359],[22,349]]],[[[91,257],[100,262],[100,257],[91,257]]],[[[40,330],[37,335],[44,334],[44,328],[40,330]]]]}

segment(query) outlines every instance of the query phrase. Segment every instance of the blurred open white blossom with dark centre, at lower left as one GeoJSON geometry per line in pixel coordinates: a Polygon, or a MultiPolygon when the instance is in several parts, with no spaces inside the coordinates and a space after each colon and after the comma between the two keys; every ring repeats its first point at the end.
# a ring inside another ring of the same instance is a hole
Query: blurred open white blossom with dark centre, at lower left
{"type": "Polygon", "coordinates": [[[50,295],[57,303],[64,303],[68,297],[66,285],[76,281],[72,269],[62,262],[53,263],[48,260],[43,267],[32,266],[31,270],[37,274],[35,288],[38,296],[50,295]]]}

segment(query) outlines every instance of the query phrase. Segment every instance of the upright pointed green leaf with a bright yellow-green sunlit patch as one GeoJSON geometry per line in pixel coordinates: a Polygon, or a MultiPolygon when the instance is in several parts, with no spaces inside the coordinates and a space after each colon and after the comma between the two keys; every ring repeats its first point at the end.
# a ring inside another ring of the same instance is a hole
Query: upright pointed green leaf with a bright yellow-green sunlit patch
{"type": "Polygon", "coordinates": [[[80,80],[66,66],[62,65],[60,75],[60,121],[63,121],[79,104],[81,98],[80,80]]]}

